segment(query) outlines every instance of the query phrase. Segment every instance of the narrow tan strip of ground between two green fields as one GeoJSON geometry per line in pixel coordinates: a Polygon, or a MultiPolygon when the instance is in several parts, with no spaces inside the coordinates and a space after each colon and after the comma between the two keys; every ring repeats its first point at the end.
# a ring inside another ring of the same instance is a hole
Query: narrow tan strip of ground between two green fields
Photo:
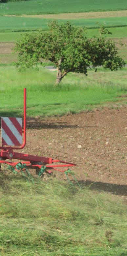
{"type": "MultiPolygon", "coordinates": [[[[6,15],[14,16],[14,15],[6,15]]],[[[61,14],[38,14],[38,15],[21,15],[20,17],[28,18],[47,18],[47,19],[82,19],[82,18],[108,18],[108,17],[126,17],[127,10],[110,11],[110,12],[86,12],[86,13],[61,13],[61,14]]],[[[18,16],[17,16],[18,17],[18,16]]]]}

